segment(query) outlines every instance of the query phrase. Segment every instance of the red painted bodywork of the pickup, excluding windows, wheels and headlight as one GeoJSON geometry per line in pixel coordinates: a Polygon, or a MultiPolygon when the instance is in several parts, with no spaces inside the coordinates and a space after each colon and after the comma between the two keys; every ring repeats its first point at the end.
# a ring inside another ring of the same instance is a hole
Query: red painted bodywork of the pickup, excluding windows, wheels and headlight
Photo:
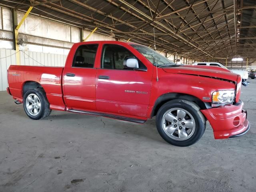
{"type": "MultiPolygon", "coordinates": [[[[239,75],[218,67],[180,66],[158,68],[159,80],[156,81],[156,67],[130,44],[117,41],[76,43],[68,54],[64,68],[12,65],[8,69],[8,92],[22,102],[23,85],[34,81],[44,88],[52,109],[86,110],[142,120],[151,118],[156,100],[168,93],[191,95],[210,103],[214,91],[236,90],[236,102],[239,101],[242,84],[239,75]],[[98,44],[94,68],[72,67],[74,54],[83,44],[98,44]],[[118,44],[127,48],[146,66],[147,71],[102,69],[104,44],[118,44]],[[75,76],[66,76],[67,73],[75,76]],[[99,79],[99,76],[110,78],[99,79]]],[[[240,134],[249,124],[245,112],[242,112],[242,105],[201,111],[212,125],[216,139],[240,134]],[[236,126],[233,124],[234,118],[239,118],[236,126]]]]}

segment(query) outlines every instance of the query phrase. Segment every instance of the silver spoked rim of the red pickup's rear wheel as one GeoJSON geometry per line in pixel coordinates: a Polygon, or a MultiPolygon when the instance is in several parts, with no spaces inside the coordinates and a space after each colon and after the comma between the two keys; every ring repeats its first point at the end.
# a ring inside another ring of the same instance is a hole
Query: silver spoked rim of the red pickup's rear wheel
{"type": "Polygon", "coordinates": [[[41,110],[41,102],[36,94],[29,94],[26,98],[26,109],[32,116],[37,116],[41,110]]]}

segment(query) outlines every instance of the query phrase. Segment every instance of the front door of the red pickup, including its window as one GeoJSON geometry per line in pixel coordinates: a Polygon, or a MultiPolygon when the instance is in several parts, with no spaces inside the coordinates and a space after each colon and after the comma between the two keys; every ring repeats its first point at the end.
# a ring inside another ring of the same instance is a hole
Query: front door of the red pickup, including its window
{"type": "Polygon", "coordinates": [[[123,65],[126,57],[136,58],[123,46],[103,45],[101,68],[96,75],[96,108],[124,116],[146,117],[152,72],[146,71],[139,60],[139,67],[145,71],[127,68],[123,65]]]}

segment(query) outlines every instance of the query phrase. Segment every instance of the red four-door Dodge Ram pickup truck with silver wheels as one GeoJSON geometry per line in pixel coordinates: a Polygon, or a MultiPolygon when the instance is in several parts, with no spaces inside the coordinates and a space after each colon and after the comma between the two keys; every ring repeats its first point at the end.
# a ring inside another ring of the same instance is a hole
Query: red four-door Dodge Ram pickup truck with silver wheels
{"type": "Polygon", "coordinates": [[[15,66],[7,91],[34,120],[62,110],[143,123],[156,116],[164,140],[197,142],[245,134],[250,123],[239,100],[242,79],[217,67],[176,65],[154,50],[118,41],[72,46],[65,67],[15,66]]]}

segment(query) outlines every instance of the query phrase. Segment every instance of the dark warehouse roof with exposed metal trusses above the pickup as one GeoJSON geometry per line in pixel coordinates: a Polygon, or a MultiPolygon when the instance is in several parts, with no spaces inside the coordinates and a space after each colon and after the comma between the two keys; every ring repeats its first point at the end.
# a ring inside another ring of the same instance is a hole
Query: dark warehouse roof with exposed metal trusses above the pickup
{"type": "MultiPolygon", "coordinates": [[[[190,58],[256,57],[256,1],[32,0],[32,14],[190,58]],[[40,4],[40,5],[36,5],[40,4]],[[250,28],[248,26],[251,26],[250,28]],[[236,38],[235,38],[236,37],[236,38]]],[[[2,2],[26,11],[29,0],[2,2]],[[24,7],[26,6],[26,7],[24,7]]]]}

